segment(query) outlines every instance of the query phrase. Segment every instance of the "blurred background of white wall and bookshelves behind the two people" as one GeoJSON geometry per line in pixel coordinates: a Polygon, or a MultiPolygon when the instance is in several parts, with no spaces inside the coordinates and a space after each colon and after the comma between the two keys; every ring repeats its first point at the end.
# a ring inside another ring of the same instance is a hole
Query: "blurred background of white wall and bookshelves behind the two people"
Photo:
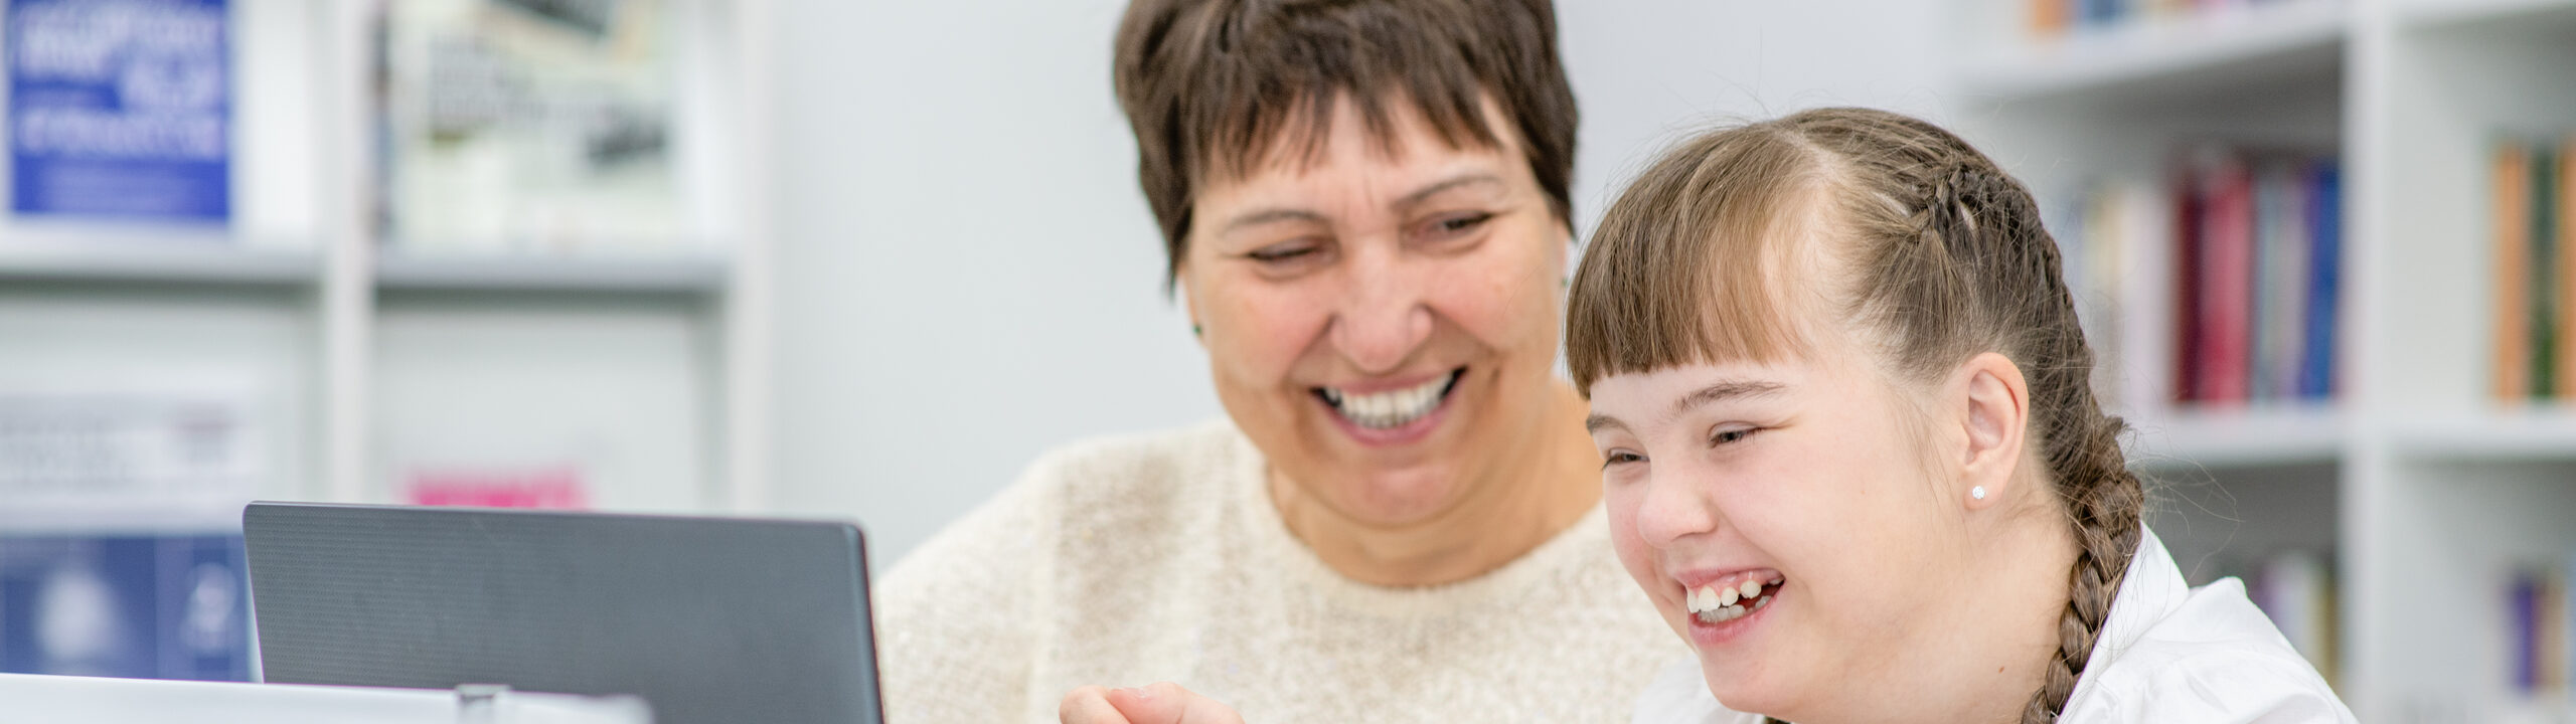
{"type": "MultiPolygon", "coordinates": [[[[250,678],[245,500],[855,518],[1221,415],[1118,0],[0,0],[0,670],[250,678]]],[[[2576,0],[1561,3],[1577,229],[1880,106],[2032,186],[2151,526],[2365,721],[2576,721],[2576,0]]]]}

